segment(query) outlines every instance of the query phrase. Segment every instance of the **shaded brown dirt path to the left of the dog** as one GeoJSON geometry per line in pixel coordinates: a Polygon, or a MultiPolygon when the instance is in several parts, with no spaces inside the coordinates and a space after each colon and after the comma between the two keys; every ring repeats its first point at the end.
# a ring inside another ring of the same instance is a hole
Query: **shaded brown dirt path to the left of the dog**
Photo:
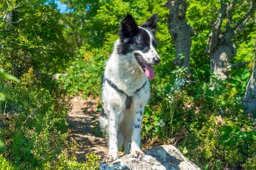
{"type": "Polygon", "coordinates": [[[76,157],[78,162],[86,161],[86,155],[95,152],[103,158],[108,153],[107,139],[92,133],[92,118],[99,116],[97,102],[92,98],[88,100],[75,96],[72,100],[73,109],[69,113],[67,122],[71,130],[70,140],[77,144],[76,157]]]}

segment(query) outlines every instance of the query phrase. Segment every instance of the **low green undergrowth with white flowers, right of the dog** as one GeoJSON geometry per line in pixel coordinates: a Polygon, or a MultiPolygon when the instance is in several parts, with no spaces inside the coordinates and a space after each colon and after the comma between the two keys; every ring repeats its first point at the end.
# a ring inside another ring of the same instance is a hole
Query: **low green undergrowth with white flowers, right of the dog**
{"type": "MultiPolygon", "coordinates": [[[[245,70],[241,75],[245,81],[246,74],[245,70]]],[[[237,97],[244,89],[234,91],[236,84],[230,86],[212,75],[211,83],[187,84],[170,95],[173,79],[155,79],[151,84],[153,98],[142,125],[144,148],[175,144],[202,169],[255,169],[255,122],[243,114],[237,97]]],[[[245,88],[242,84],[237,85],[245,88]]]]}

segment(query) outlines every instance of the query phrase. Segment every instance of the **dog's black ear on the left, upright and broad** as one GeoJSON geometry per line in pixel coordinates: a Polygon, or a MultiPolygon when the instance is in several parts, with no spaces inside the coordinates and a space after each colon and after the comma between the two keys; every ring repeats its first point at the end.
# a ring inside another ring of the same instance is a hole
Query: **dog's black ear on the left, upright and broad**
{"type": "Polygon", "coordinates": [[[121,29],[119,32],[122,43],[127,41],[133,35],[139,33],[139,27],[131,14],[127,14],[124,20],[121,21],[121,29]]]}

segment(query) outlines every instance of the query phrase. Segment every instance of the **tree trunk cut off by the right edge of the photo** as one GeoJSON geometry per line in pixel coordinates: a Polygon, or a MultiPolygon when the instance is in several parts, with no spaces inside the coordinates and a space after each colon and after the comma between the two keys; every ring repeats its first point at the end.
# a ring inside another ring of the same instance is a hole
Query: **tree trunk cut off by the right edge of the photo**
{"type": "MultiPolygon", "coordinates": [[[[256,45],[256,39],[255,39],[255,45],[256,45]]],[[[245,111],[245,113],[248,113],[249,116],[251,116],[252,118],[255,118],[253,111],[256,109],[256,60],[254,61],[252,75],[249,79],[249,82],[247,83],[247,86],[245,89],[245,96],[243,96],[242,103],[243,105],[245,105],[245,107],[247,107],[247,110],[245,111]]]]}

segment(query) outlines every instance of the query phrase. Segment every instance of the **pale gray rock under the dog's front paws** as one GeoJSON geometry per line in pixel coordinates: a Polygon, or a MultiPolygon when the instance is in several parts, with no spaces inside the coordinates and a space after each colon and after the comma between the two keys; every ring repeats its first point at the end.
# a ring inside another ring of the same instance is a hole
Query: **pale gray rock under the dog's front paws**
{"type": "Polygon", "coordinates": [[[143,159],[124,155],[111,163],[100,163],[100,166],[103,170],[200,170],[173,145],[146,150],[143,159]]]}

